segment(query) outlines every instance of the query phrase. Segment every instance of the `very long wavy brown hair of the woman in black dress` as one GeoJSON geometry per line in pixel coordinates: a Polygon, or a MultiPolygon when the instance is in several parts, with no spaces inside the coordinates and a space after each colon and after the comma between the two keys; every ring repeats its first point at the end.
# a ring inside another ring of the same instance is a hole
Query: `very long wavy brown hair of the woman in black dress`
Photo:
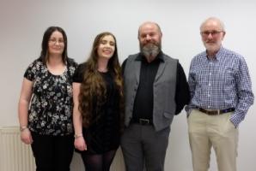
{"type": "Polygon", "coordinates": [[[117,41],[111,32],[101,32],[94,39],[93,48],[90,56],[88,57],[88,61],[86,62],[86,68],[83,73],[83,80],[79,94],[79,111],[82,114],[82,126],[89,127],[93,120],[97,120],[94,113],[97,114],[102,105],[106,103],[107,85],[104,82],[101,73],[98,71],[99,56],[97,50],[101,44],[101,39],[108,35],[112,36],[115,41],[115,50],[113,52],[113,56],[107,63],[107,68],[111,71],[114,83],[119,91],[119,99],[117,100],[119,100],[119,119],[121,130],[124,127],[124,85],[121,67],[119,64],[117,41]]]}

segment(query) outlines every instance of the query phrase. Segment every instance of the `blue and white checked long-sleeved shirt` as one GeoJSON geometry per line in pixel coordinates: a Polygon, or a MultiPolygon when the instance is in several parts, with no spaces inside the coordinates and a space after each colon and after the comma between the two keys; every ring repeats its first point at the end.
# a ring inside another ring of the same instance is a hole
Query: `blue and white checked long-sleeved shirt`
{"type": "Polygon", "coordinates": [[[230,121],[238,127],[253,104],[252,83],[244,58],[234,51],[221,49],[215,58],[206,51],[192,59],[188,84],[192,100],[186,111],[235,108],[230,121]]]}

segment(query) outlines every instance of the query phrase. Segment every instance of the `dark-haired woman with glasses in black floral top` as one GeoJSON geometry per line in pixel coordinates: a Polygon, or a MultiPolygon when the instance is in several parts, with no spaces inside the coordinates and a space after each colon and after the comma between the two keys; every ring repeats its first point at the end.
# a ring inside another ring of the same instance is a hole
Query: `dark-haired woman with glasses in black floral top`
{"type": "Polygon", "coordinates": [[[25,74],[19,100],[21,141],[31,144],[37,171],[69,171],[73,156],[72,78],[77,64],[68,57],[67,36],[49,27],[40,57],[25,74]]]}

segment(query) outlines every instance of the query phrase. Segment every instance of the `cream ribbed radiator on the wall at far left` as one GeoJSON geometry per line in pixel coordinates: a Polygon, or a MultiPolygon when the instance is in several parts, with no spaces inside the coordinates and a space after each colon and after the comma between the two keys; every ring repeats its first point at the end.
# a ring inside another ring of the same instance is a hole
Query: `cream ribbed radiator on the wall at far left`
{"type": "Polygon", "coordinates": [[[34,156],[30,145],[23,144],[19,127],[0,129],[1,171],[34,171],[34,156]]]}

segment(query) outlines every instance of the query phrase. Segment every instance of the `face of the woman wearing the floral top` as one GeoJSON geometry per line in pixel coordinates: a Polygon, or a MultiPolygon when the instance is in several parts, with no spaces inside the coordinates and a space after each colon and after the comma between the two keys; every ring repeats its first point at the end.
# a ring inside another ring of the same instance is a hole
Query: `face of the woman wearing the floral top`
{"type": "Polygon", "coordinates": [[[52,32],[48,40],[49,55],[62,55],[64,52],[64,37],[61,32],[52,32]]]}

